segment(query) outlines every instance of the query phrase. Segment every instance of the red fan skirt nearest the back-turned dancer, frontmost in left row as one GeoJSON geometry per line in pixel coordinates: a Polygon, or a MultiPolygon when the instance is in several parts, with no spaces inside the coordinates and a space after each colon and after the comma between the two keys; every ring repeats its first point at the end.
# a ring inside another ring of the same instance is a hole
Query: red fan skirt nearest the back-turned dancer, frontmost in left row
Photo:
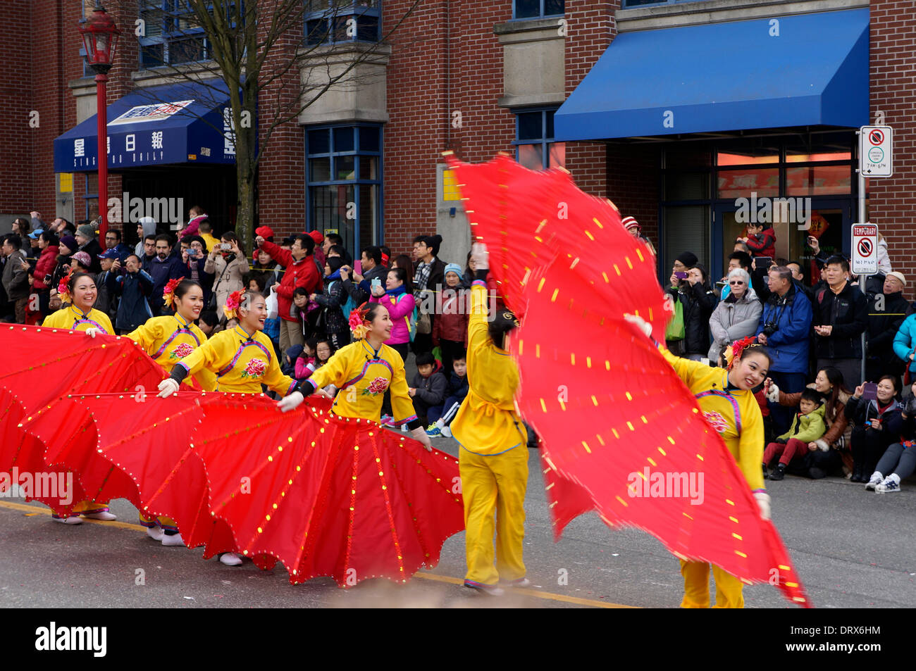
{"type": "MultiPolygon", "coordinates": [[[[289,581],[330,576],[406,581],[439,561],[463,529],[453,457],[380,427],[337,417],[323,399],[280,413],[265,398],[202,401],[191,436],[209,478],[214,525],[233,549],[289,581]]],[[[195,539],[196,540],[196,539],[195,539]]]]}

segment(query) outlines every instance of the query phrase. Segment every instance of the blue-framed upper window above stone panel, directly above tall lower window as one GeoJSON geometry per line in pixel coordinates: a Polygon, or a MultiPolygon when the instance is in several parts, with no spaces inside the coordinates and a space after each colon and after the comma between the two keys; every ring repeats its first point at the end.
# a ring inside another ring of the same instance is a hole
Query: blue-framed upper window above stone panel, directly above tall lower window
{"type": "Polygon", "coordinates": [[[305,43],[377,42],[381,0],[304,0],[305,43]]]}

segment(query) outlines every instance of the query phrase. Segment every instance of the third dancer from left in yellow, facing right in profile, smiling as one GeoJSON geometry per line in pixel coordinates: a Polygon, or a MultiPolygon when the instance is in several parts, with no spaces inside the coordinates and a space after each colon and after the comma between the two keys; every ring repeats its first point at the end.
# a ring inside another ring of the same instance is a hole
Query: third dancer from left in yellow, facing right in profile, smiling
{"type": "MultiPolygon", "coordinates": [[[[203,371],[215,375],[215,391],[231,394],[260,394],[261,384],[280,395],[288,395],[299,384],[280,371],[273,343],[264,334],[267,303],[256,292],[236,291],[226,299],[227,319],[238,319],[234,329],[223,330],[176,363],[169,377],[159,384],[159,396],[166,398],[180,388],[188,375],[203,371]]],[[[200,379],[200,378],[199,378],[200,379]]],[[[242,557],[234,552],[220,555],[228,566],[238,566],[242,557]]]]}

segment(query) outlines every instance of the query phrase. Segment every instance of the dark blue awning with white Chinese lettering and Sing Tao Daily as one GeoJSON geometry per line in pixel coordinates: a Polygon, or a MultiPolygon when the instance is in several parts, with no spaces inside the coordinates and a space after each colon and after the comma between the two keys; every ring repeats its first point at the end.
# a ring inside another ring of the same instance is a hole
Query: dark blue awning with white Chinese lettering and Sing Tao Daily
{"type": "MultiPolygon", "coordinates": [[[[235,147],[222,80],[183,81],[128,93],[108,105],[108,168],[231,164],[235,147]]],[[[96,115],[54,140],[55,172],[98,170],[96,115]]]]}

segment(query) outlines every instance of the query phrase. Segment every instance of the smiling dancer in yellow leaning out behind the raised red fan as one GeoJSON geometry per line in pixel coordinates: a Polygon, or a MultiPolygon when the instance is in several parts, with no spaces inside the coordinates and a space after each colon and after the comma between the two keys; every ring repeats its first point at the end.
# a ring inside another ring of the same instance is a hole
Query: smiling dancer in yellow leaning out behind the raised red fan
{"type": "MultiPolygon", "coordinates": [[[[627,319],[651,337],[652,327],[644,319],[629,315],[627,319]]],[[[725,353],[728,367],[723,370],[674,356],[659,342],[656,346],[696,397],[703,417],[722,436],[757,500],[760,516],[769,520],[769,494],[758,463],[763,458],[763,416],[752,391],[767,378],[772,363],[769,352],[750,338],[736,341],[725,353]]],[[[681,561],[682,608],[709,608],[709,567],[702,561],[681,561]]],[[[741,580],[716,566],[713,579],[714,608],[744,608],[741,580]]]]}

